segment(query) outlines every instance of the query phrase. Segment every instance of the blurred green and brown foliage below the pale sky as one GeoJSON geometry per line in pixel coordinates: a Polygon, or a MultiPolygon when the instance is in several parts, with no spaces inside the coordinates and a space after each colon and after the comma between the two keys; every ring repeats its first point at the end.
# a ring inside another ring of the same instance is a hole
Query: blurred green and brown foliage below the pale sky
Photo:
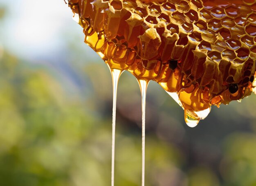
{"type": "MultiPolygon", "coordinates": [[[[3,49],[0,56],[0,185],[109,185],[112,92],[107,67],[73,66],[90,82],[84,97],[84,91],[70,93],[67,81],[47,65],[20,60],[3,49]]],[[[115,183],[121,186],[140,185],[141,175],[140,94],[130,77],[124,73],[120,79],[117,104],[115,183]]],[[[225,113],[213,108],[191,129],[184,125],[182,110],[156,83],[150,84],[146,185],[256,185],[255,116],[246,110],[250,103],[237,109],[237,103],[231,104],[225,113]],[[232,113],[237,122],[223,123],[233,122],[232,113]]]]}

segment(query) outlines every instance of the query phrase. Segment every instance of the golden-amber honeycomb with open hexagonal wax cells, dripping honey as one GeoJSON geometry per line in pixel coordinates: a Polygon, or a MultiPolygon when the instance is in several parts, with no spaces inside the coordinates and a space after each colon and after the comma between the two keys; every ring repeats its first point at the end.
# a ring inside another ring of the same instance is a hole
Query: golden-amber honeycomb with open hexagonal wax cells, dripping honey
{"type": "Polygon", "coordinates": [[[156,81],[177,94],[187,118],[197,120],[211,105],[243,99],[254,88],[255,0],[68,0],[68,4],[83,27],[85,43],[110,68],[156,81]]]}

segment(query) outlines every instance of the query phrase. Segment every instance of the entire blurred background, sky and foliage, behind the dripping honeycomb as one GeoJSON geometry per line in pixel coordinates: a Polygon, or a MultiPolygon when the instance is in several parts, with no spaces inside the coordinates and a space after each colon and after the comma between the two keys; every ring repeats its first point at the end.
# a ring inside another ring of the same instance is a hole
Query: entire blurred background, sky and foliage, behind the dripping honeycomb
{"type": "MultiPolygon", "coordinates": [[[[141,179],[141,100],[122,74],[117,186],[141,179]]],[[[155,82],[146,102],[147,186],[256,186],[256,96],[195,128],[155,82]]],[[[63,0],[0,0],[0,186],[109,186],[112,81],[63,0]]]]}

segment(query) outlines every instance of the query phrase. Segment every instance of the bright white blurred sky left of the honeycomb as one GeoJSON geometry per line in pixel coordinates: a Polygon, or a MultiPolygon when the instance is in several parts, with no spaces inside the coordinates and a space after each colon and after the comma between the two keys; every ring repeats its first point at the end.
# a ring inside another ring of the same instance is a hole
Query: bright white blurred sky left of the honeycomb
{"type": "MultiPolygon", "coordinates": [[[[65,52],[67,41],[72,39],[70,33],[78,45],[85,47],[83,29],[72,20],[72,11],[64,0],[0,0],[0,7],[7,7],[0,23],[0,43],[21,58],[65,52]]],[[[90,51],[87,46],[85,50],[90,51]]]]}

